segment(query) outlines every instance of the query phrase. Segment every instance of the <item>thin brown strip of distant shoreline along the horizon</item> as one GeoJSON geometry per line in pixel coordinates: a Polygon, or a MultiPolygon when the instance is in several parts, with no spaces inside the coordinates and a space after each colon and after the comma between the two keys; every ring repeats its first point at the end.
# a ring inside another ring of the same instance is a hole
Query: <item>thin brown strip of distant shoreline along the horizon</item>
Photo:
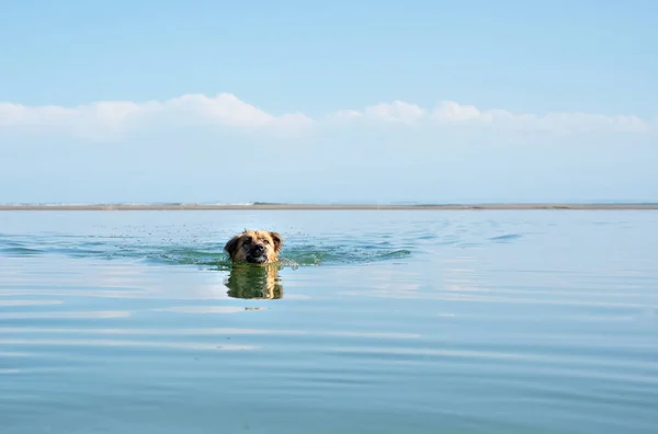
{"type": "Polygon", "coordinates": [[[204,205],[204,204],[162,204],[162,205],[0,205],[2,210],[532,210],[532,209],[655,209],[658,204],[446,204],[446,205],[322,205],[322,204],[253,204],[253,205],[204,205]]]}

